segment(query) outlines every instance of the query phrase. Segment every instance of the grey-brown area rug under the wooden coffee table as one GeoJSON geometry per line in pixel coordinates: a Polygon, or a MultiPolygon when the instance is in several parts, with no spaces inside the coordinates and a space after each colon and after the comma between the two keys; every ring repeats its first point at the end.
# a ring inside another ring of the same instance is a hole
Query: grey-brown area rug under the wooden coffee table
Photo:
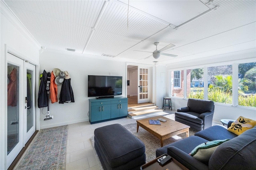
{"type": "MultiPolygon", "coordinates": [[[[164,117],[167,117],[169,119],[174,119],[174,114],[172,115],[165,115],[164,117]]],[[[160,139],[158,139],[156,136],[151,134],[150,132],[144,130],[144,128],[139,127],[138,133],[137,133],[137,123],[131,123],[128,125],[123,125],[127,130],[129,130],[134,136],[137,136],[146,147],[146,162],[150,162],[151,160],[154,160],[156,158],[156,149],[161,148],[160,139]]],[[[189,136],[193,136],[198,130],[190,128],[189,129],[189,136]]],[[[176,136],[173,136],[171,138],[168,138],[163,141],[164,146],[173,142],[176,142],[178,140],[181,140],[182,138],[186,138],[186,133],[178,134],[176,136]]],[[[92,143],[92,146],[94,148],[94,136],[90,138],[90,141],[92,143]]],[[[94,153],[96,156],[96,159],[101,167],[100,160],[98,159],[98,155],[94,148],[94,153]]],[[[102,168],[102,167],[101,167],[102,168]]]]}

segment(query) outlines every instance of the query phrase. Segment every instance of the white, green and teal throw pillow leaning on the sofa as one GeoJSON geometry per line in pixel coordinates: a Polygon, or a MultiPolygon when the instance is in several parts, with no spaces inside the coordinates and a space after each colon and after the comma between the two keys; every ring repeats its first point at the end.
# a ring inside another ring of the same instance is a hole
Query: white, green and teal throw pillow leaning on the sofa
{"type": "Polygon", "coordinates": [[[212,153],[214,150],[223,142],[226,142],[230,139],[225,139],[225,140],[213,140],[209,142],[204,142],[196,148],[194,148],[191,152],[190,155],[196,158],[197,160],[201,162],[208,162],[210,157],[212,156],[212,153]]]}

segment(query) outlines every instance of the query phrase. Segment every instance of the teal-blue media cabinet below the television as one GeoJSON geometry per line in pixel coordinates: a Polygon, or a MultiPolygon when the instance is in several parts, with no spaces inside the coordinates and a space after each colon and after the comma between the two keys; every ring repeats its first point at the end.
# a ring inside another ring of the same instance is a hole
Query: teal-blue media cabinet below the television
{"type": "Polygon", "coordinates": [[[127,117],[128,98],[89,99],[90,124],[127,117]]]}

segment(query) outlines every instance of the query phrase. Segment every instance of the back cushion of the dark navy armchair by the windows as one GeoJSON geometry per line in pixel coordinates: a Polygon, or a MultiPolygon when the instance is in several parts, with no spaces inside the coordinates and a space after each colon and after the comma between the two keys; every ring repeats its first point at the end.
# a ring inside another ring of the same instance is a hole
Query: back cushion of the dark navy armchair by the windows
{"type": "Polygon", "coordinates": [[[214,110],[214,102],[209,100],[188,99],[187,106],[190,108],[191,112],[200,114],[205,112],[212,112],[214,110]]]}

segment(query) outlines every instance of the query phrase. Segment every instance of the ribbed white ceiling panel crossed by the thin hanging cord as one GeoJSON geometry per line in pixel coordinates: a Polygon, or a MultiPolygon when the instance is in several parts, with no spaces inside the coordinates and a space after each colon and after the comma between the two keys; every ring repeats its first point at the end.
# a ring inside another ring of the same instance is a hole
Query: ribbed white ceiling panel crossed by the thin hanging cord
{"type": "Polygon", "coordinates": [[[138,10],[128,12],[128,6],[118,1],[109,1],[104,9],[96,29],[134,40],[145,40],[168,26],[138,10]]]}

